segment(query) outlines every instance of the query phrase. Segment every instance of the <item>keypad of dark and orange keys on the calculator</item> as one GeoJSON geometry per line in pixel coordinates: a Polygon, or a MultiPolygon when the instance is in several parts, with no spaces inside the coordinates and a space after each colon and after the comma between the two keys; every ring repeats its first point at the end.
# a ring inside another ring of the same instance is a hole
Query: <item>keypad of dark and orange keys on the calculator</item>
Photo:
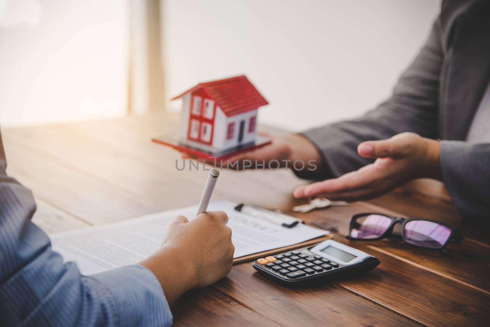
{"type": "Polygon", "coordinates": [[[257,259],[261,267],[271,274],[285,275],[288,279],[300,279],[308,275],[321,274],[338,268],[339,264],[309,251],[291,251],[257,259]]]}

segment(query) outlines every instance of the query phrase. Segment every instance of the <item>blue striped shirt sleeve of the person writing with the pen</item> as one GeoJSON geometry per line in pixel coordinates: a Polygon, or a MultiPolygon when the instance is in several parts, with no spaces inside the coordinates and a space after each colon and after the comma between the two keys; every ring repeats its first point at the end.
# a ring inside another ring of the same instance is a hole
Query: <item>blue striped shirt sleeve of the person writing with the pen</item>
{"type": "Polygon", "coordinates": [[[140,265],[92,276],[52,251],[30,219],[32,193],[5,173],[0,135],[1,326],[171,326],[156,277],[140,265]]]}

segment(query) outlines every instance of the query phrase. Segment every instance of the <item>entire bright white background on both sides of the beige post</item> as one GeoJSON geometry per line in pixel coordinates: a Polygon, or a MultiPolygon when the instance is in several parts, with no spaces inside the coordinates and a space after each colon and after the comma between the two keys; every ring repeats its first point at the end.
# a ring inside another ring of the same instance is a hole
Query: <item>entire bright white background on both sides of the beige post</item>
{"type": "MultiPolygon", "coordinates": [[[[0,0],[1,127],[146,112],[145,1],[0,0]]],[[[440,2],[161,1],[166,98],[245,73],[270,101],[259,123],[291,130],[385,99],[440,2]]]]}

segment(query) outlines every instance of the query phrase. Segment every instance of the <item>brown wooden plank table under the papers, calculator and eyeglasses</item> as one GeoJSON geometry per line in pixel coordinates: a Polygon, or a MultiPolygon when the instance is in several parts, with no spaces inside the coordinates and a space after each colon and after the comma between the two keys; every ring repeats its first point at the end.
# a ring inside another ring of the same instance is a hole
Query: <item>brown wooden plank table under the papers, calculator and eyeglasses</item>
{"type": "MultiPolygon", "coordinates": [[[[196,204],[202,171],[178,171],[179,154],[150,139],[178,116],[145,117],[2,130],[7,172],[33,190],[34,222],[47,232],[120,221],[196,204]]],[[[226,172],[213,195],[290,212],[307,183],[290,171],[226,172]]],[[[490,200],[490,199],[489,199],[490,200]]],[[[490,318],[488,224],[466,222],[451,257],[401,242],[345,239],[352,214],[380,211],[459,225],[441,183],[414,181],[390,194],[347,207],[298,215],[332,231],[337,241],[381,260],[365,276],[288,289],[237,264],[216,284],[188,292],[173,305],[175,326],[477,326],[490,318]]],[[[163,233],[163,231],[162,231],[163,233]]]]}

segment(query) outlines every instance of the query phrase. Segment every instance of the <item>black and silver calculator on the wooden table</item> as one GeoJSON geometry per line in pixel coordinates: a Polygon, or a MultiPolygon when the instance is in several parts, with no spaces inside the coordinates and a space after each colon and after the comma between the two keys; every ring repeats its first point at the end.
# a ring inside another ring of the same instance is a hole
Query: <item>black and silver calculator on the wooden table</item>
{"type": "Polygon", "coordinates": [[[368,272],[380,263],[376,257],[329,239],[295,251],[252,262],[259,273],[281,283],[328,280],[368,272]]]}

